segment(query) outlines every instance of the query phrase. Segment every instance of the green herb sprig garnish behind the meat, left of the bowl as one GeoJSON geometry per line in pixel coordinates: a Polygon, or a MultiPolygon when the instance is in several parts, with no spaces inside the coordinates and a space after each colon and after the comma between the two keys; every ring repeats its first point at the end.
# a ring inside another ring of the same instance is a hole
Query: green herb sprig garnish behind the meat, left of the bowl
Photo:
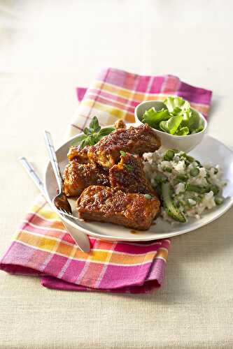
{"type": "Polygon", "coordinates": [[[93,117],[89,127],[84,128],[83,135],[78,135],[71,145],[80,145],[81,148],[84,148],[86,145],[94,145],[105,135],[109,135],[113,131],[115,131],[113,127],[101,128],[97,117],[93,117]]]}

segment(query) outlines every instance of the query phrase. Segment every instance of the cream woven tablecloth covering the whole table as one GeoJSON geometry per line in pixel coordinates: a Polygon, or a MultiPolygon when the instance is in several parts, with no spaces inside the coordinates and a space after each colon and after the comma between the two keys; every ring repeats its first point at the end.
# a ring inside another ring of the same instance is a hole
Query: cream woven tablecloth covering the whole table
{"type": "MultiPolygon", "coordinates": [[[[172,73],[213,89],[209,134],[233,149],[233,3],[0,1],[0,253],[37,191],[77,85],[102,66],[172,73]]],[[[163,288],[150,295],[60,292],[0,273],[0,348],[233,348],[233,210],[172,240],[163,288]],[[181,257],[182,255],[182,257],[181,257]]]]}

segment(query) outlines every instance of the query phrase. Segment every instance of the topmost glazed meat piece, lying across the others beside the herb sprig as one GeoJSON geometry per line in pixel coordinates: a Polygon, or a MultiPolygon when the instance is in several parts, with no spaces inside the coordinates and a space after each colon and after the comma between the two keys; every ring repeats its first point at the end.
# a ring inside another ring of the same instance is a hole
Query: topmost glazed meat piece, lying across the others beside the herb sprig
{"type": "Polygon", "coordinates": [[[111,168],[120,159],[120,150],[142,156],[160,147],[160,139],[147,124],[139,127],[119,128],[106,135],[89,148],[90,161],[99,163],[103,168],[111,168]]]}

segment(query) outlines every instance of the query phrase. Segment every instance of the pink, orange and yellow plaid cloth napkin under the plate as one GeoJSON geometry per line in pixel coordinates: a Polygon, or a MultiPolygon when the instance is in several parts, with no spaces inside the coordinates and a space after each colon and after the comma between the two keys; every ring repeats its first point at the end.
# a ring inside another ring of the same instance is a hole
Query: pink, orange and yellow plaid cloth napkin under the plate
{"type": "MultiPolygon", "coordinates": [[[[207,117],[211,91],[192,87],[173,75],[141,76],[117,69],[101,70],[89,89],[77,89],[80,105],[69,127],[76,135],[97,115],[101,126],[118,118],[134,121],[141,101],[182,96],[207,117]]],[[[41,284],[59,290],[146,293],[164,279],[169,239],[150,243],[104,242],[90,238],[83,253],[55,212],[38,196],[0,261],[10,274],[41,276],[41,284]]]]}

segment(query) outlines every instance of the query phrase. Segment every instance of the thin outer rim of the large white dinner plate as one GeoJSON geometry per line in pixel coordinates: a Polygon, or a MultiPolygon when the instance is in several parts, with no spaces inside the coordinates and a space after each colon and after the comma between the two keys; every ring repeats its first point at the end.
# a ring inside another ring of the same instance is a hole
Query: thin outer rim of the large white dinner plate
{"type": "MultiPolygon", "coordinates": [[[[80,135],[82,133],[78,133],[78,135],[80,135]]],[[[65,144],[67,144],[68,142],[71,142],[73,139],[75,139],[77,137],[77,135],[74,135],[73,137],[69,138],[69,140],[66,140],[64,143],[62,143],[57,149],[56,149],[56,153],[57,151],[59,151],[59,149],[61,149],[62,147],[64,147],[65,144]]],[[[213,142],[218,142],[218,144],[221,144],[223,147],[225,147],[228,151],[230,151],[230,153],[232,153],[232,156],[233,156],[233,151],[232,149],[230,149],[230,147],[227,147],[227,145],[225,145],[223,142],[221,142],[220,140],[217,140],[216,138],[212,137],[211,135],[205,135],[205,138],[211,138],[211,140],[213,142]]],[[[52,200],[50,200],[50,195],[48,193],[48,188],[47,188],[47,181],[46,181],[46,178],[47,178],[47,174],[48,174],[48,169],[49,169],[49,165],[50,165],[50,161],[48,161],[47,165],[46,165],[46,168],[45,168],[45,172],[44,172],[44,177],[43,177],[43,182],[45,184],[45,192],[46,192],[46,195],[48,197],[48,200],[49,200],[49,203],[50,205],[54,206],[53,205],[53,202],[52,200]]],[[[206,223],[199,223],[199,225],[195,228],[187,228],[185,230],[182,230],[181,232],[170,232],[168,233],[167,236],[164,236],[163,234],[163,237],[115,237],[113,235],[101,235],[101,233],[97,233],[97,232],[92,232],[86,228],[83,228],[83,227],[80,227],[80,225],[77,225],[76,221],[73,220],[71,221],[71,218],[66,218],[65,216],[62,216],[62,214],[59,214],[59,212],[57,212],[58,216],[63,220],[65,221],[66,223],[68,223],[69,225],[71,225],[73,228],[76,228],[76,230],[80,230],[82,232],[84,232],[85,234],[89,235],[89,236],[92,236],[92,237],[95,237],[97,239],[101,239],[101,240],[109,240],[109,241],[125,241],[125,242],[146,242],[146,241],[153,241],[153,240],[159,240],[159,239],[169,239],[171,237],[174,237],[174,236],[178,236],[178,235],[183,235],[183,234],[186,234],[187,232],[192,232],[192,231],[195,231],[195,230],[198,230],[199,228],[202,228],[204,227],[204,225],[207,225],[213,221],[216,221],[216,219],[220,218],[220,216],[223,216],[223,214],[225,214],[231,207],[233,206],[233,197],[230,197],[230,200],[228,202],[228,205],[225,207],[225,209],[223,209],[223,211],[220,211],[219,214],[217,214],[216,216],[212,217],[209,219],[209,221],[207,221],[206,223]]]]}

